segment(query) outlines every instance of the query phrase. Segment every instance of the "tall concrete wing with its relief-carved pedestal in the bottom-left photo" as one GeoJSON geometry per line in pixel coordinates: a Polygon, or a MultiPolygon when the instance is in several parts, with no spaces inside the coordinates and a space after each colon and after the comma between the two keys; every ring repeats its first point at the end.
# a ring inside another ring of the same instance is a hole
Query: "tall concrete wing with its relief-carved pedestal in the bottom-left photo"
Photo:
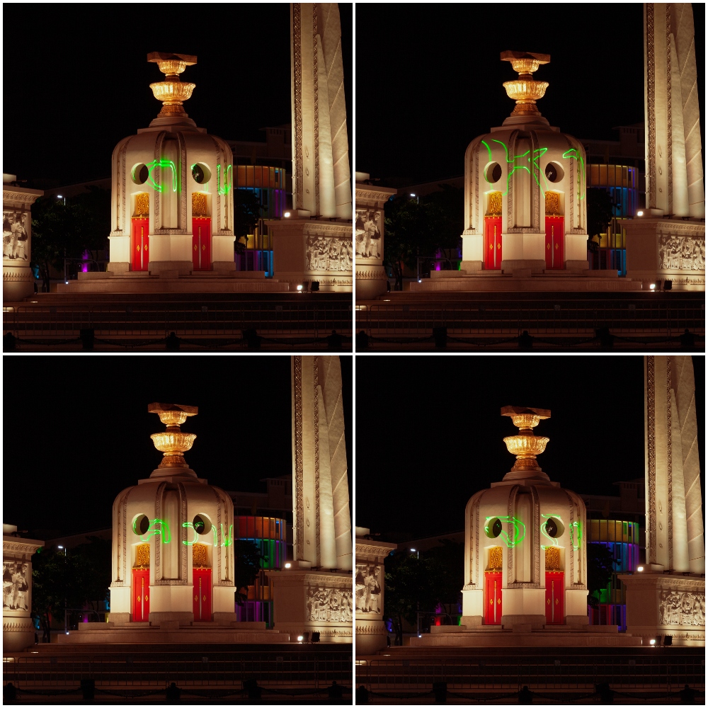
{"type": "Polygon", "coordinates": [[[292,357],[292,566],[273,581],[275,627],[352,641],[352,537],[338,357],[292,357]]]}

